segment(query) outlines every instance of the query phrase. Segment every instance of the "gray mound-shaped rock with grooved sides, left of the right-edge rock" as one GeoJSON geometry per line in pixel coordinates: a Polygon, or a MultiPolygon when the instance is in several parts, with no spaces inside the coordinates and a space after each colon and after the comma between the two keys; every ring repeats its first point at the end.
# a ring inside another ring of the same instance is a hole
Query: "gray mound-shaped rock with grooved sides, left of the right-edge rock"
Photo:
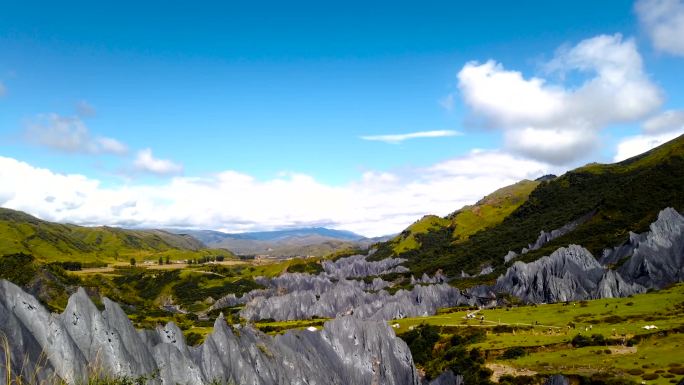
{"type": "Polygon", "coordinates": [[[542,303],[626,296],[645,289],[625,283],[587,249],[571,245],[531,263],[514,263],[497,279],[495,290],[542,303]]]}

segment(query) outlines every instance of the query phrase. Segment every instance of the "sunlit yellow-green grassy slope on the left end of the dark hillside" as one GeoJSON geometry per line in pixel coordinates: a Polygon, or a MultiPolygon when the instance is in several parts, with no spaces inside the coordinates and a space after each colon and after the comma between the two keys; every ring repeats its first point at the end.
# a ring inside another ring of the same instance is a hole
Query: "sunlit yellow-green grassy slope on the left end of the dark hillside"
{"type": "Polygon", "coordinates": [[[478,231],[500,223],[527,200],[537,185],[539,182],[523,180],[501,188],[475,205],[465,206],[445,218],[426,215],[387,244],[395,254],[420,250],[421,236],[438,232],[450,233],[450,242],[465,242],[478,231]]]}

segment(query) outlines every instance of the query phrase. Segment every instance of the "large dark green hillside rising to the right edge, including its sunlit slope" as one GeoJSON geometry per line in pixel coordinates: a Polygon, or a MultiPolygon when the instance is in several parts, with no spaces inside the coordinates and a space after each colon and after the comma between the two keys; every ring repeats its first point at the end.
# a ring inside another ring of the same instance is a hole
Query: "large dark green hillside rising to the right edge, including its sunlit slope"
{"type": "Polygon", "coordinates": [[[441,268],[457,276],[461,270],[477,273],[486,265],[501,272],[509,250],[519,252],[536,240],[540,230],[557,229],[590,212],[595,215],[588,222],[524,259],[533,260],[572,243],[600,255],[603,248],[624,242],[629,231],[646,231],[663,208],[683,211],[682,186],[684,136],[621,163],[590,164],[567,172],[539,183],[531,192],[516,188],[519,193],[512,197],[517,199],[504,201],[496,210],[488,205],[490,211],[480,209],[485,214],[477,218],[473,218],[473,208],[464,207],[446,218],[450,223],[440,221],[427,230],[421,226],[421,232],[413,230],[414,224],[380,244],[373,258],[407,258],[406,265],[415,273],[441,268]],[[415,238],[410,247],[397,247],[410,237],[415,238]]]}

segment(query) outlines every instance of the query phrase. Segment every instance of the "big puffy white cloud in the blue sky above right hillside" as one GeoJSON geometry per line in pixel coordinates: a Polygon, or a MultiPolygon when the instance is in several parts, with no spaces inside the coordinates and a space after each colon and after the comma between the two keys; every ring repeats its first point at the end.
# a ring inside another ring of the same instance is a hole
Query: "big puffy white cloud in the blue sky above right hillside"
{"type": "Polygon", "coordinates": [[[546,68],[585,79],[578,86],[552,84],[493,60],[467,63],[458,73],[472,119],[503,130],[509,150],[533,159],[557,165],[579,160],[594,150],[601,129],[642,119],[662,104],[634,41],[620,34],[561,49],[546,68]]]}

